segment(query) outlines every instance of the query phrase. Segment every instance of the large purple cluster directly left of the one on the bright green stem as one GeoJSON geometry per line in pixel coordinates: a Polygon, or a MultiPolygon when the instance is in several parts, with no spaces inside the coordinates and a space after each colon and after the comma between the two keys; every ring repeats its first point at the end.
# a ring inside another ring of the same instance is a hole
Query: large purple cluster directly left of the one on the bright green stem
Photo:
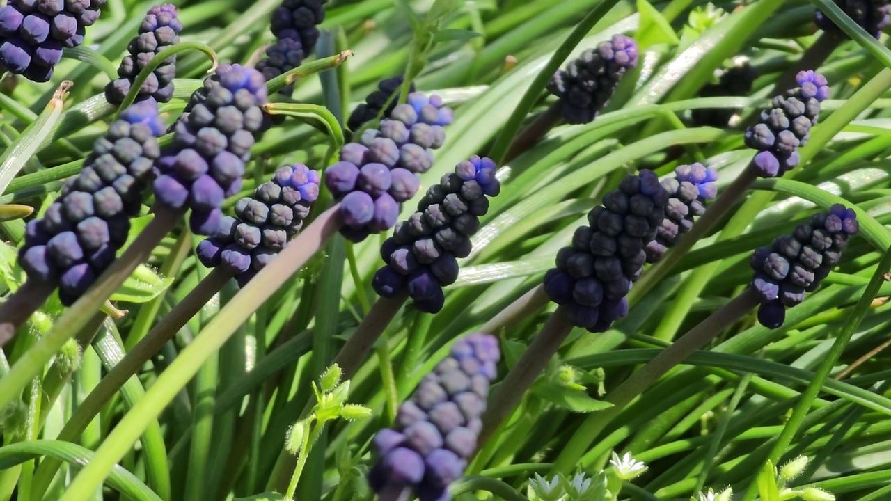
{"type": "Polygon", "coordinates": [[[220,204],[241,189],[255,136],[267,127],[266,80],[253,68],[220,65],[192,103],[174,127],[173,147],[155,163],[155,199],[168,209],[192,209],[195,234],[216,234],[220,204]]]}

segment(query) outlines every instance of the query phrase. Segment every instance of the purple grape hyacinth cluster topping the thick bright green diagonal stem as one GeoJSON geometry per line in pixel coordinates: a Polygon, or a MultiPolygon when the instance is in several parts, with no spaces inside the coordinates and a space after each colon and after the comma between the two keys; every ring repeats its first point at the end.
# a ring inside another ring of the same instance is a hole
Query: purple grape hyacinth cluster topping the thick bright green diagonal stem
{"type": "Polygon", "coordinates": [[[396,225],[399,207],[421,186],[418,174],[433,167],[443,128],[454,119],[437,95],[416,92],[408,102],[367,129],[358,143],[340,148],[340,161],[325,169],[325,185],[340,202],[340,233],[353,242],[396,225]]]}

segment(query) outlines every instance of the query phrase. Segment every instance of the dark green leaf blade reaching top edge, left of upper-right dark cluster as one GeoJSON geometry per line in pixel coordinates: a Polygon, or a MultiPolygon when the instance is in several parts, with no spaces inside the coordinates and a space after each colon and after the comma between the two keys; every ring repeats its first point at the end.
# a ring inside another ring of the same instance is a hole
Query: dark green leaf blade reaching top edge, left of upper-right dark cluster
{"type": "Polygon", "coordinates": [[[600,4],[597,4],[591,12],[588,12],[588,14],[582,18],[582,21],[578,21],[576,28],[573,29],[566,40],[560,44],[560,47],[554,51],[551,59],[544,65],[544,68],[538,75],[535,76],[532,83],[529,85],[526,94],[523,94],[523,98],[517,103],[517,107],[514,108],[511,117],[507,119],[501,133],[495,138],[495,144],[492,145],[492,150],[489,151],[489,157],[495,160],[495,163],[498,165],[504,163],[508,147],[510,146],[513,137],[517,134],[520,125],[523,123],[523,119],[526,118],[526,115],[532,110],[532,107],[535,106],[535,102],[538,101],[538,96],[542,93],[544,87],[548,85],[552,75],[557,72],[557,70],[560,70],[560,64],[562,64],[569,54],[572,53],[572,50],[576,48],[576,45],[588,35],[594,25],[597,24],[598,21],[601,21],[601,18],[616,4],[618,4],[618,0],[602,0],[600,4]]]}

